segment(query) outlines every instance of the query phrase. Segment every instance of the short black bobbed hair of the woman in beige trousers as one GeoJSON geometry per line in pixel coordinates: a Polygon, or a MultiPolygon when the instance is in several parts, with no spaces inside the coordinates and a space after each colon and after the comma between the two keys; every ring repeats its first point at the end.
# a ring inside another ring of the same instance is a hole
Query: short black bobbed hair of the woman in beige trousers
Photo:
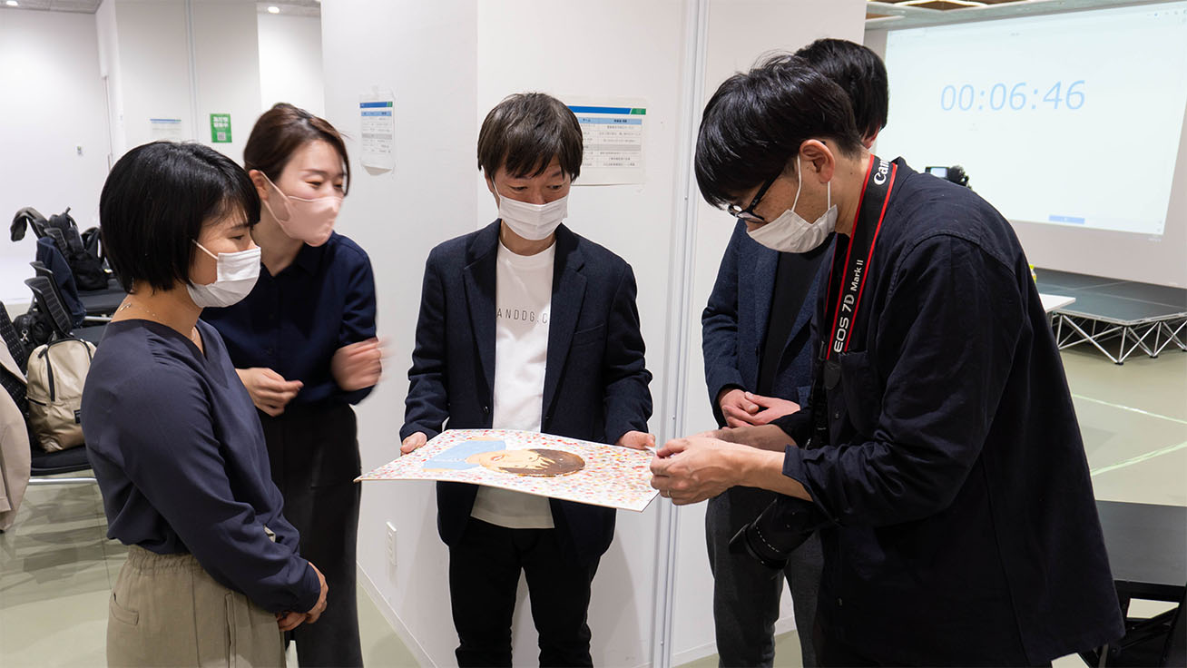
{"type": "Polygon", "coordinates": [[[128,151],[99,198],[103,250],[125,291],[190,284],[190,265],[211,221],[240,212],[260,220],[260,197],[234,160],[201,144],[154,141],[128,151]]]}

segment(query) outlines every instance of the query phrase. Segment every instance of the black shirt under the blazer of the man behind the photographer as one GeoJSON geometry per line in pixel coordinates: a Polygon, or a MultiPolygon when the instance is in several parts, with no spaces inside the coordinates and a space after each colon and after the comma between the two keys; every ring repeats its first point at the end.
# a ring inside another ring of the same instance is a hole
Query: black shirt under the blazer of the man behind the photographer
{"type": "MultiPolygon", "coordinates": [[[[804,306],[804,298],[815,280],[820,262],[825,256],[829,243],[808,250],[807,253],[780,253],[779,265],[775,268],[775,290],[770,299],[770,316],[767,318],[767,337],[763,342],[762,358],[758,362],[757,393],[763,396],[772,395],[775,377],[783,368],[783,352],[787,350],[800,350],[805,342],[788,341],[795,319],[800,316],[804,306]]],[[[807,339],[811,331],[805,327],[801,337],[807,339]]],[[[801,399],[801,401],[804,401],[801,399]]]]}

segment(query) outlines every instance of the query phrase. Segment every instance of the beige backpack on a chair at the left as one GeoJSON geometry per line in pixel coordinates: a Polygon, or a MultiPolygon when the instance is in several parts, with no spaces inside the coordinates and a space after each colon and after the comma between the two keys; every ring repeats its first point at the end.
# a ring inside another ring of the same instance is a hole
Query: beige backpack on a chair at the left
{"type": "Polygon", "coordinates": [[[28,356],[28,425],[42,450],[56,452],[83,444],[82,387],[95,346],[62,338],[28,356]]]}

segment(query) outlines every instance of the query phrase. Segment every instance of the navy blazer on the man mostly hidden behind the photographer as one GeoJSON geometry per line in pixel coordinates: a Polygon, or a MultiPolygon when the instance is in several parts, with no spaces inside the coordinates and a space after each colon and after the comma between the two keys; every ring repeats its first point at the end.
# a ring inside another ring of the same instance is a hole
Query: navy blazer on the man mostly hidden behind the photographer
{"type": "MultiPolygon", "coordinates": [[[[829,244],[832,244],[830,238],[829,244]]],[[[831,256],[831,255],[830,255],[831,256]]],[[[827,267],[827,257],[821,269],[827,267]]],[[[709,304],[700,314],[700,346],[705,355],[705,383],[709,386],[709,403],[713,407],[717,424],[724,426],[725,416],[717,403],[717,396],[730,387],[756,392],[758,364],[767,323],[770,319],[772,298],[775,292],[775,269],[779,252],[772,250],[750,238],[745,223],[738,221],[734,236],[725,247],[722,266],[717,271],[717,282],[709,295],[709,304]]],[[[802,341],[798,350],[783,350],[779,373],[775,374],[772,394],[796,403],[806,405],[812,390],[812,336],[801,332],[812,323],[819,280],[804,297],[804,305],[795,317],[795,324],[787,337],[788,344],[802,341]]],[[[811,332],[811,327],[808,327],[811,332]]]]}

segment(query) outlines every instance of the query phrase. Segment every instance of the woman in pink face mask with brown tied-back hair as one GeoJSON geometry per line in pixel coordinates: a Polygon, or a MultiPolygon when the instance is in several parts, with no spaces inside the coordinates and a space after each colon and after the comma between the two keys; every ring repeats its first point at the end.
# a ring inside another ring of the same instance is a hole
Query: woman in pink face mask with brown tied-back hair
{"type": "Polygon", "coordinates": [[[205,314],[259,408],[272,477],[301,547],[336,594],[317,628],[296,629],[303,666],[361,666],[355,605],[360,473],[350,408],[379,381],[370,260],[334,231],[349,186],[334,126],[292,104],[256,121],[243,151],[262,208],[255,287],[205,314]]]}

